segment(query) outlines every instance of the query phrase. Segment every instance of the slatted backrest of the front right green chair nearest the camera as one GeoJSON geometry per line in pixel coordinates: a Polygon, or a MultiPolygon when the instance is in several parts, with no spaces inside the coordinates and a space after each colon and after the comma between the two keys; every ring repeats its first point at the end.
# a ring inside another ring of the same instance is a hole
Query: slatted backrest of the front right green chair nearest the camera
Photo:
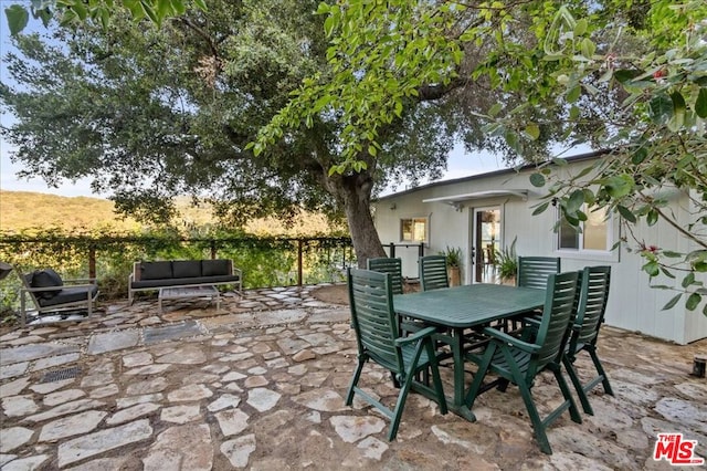
{"type": "Polygon", "coordinates": [[[536,341],[541,347],[532,355],[531,362],[535,365],[528,368],[529,378],[549,363],[559,362],[558,356],[563,352],[568,338],[568,327],[577,294],[577,272],[548,276],[542,321],[536,341]]]}

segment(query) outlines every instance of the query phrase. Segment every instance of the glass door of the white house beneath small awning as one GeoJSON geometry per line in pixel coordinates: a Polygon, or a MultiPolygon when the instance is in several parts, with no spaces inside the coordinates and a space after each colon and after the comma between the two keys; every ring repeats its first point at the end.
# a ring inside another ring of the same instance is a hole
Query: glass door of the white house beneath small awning
{"type": "Polygon", "coordinates": [[[500,207],[475,208],[472,233],[474,283],[497,283],[496,253],[500,250],[500,207]]]}

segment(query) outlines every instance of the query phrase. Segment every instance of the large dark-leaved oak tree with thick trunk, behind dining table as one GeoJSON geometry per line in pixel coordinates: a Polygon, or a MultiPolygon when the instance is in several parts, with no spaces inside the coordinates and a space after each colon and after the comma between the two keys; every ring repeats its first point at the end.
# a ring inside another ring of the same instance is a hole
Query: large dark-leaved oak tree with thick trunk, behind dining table
{"type": "MultiPolygon", "coordinates": [[[[183,193],[211,200],[235,222],[302,207],[341,211],[359,263],[383,255],[370,211],[376,191],[439,176],[457,138],[508,150],[485,136],[478,111],[516,98],[493,93],[486,77],[422,80],[395,118],[377,127],[374,145],[355,146],[362,164],[345,168],[356,126],[341,121],[331,94],[266,148],[251,149],[302,83],[337,74],[316,9],[314,1],[213,1],[161,28],[114,13],[105,25],[18,35],[20,53],[6,57],[18,86],[0,90],[17,117],[2,129],[18,147],[13,158],[50,184],[88,177],[141,218],[166,219],[170,197],[183,193]]],[[[486,48],[458,69],[471,73],[486,48]]]]}

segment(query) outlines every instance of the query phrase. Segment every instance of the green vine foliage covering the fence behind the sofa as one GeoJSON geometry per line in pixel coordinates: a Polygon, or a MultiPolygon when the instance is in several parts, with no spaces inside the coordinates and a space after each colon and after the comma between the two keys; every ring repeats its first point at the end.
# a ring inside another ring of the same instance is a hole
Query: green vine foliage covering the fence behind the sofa
{"type": "MultiPolygon", "coordinates": [[[[0,236],[0,260],[21,273],[52,268],[65,279],[87,278],[94,251],[103,300],[127,296],[128,275],[134,262],[141,260],[210,259],[214,251],[217,258],[231,259],[243,271],[244,289],[297,284],[298,245],[304,284],[340,282],[344,269],[355,263],[347,237],[274,238],[226,231],[184,237],[171,230],[134,234],[50,230],[0,236]]],[[[17,274],[0,283],[0,312],[4,317],[13,317],[18,310],[19,287],[17,274]]]]}

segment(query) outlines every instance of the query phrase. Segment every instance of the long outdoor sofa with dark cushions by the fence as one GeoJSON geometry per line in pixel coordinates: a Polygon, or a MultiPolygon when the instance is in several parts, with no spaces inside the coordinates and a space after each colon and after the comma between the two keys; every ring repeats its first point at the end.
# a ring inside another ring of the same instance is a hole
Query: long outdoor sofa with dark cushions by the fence
{"type": "Polygon", "coordinates": [[[228,259],[140,261],[135,262],[128,276],[128,301],[133,304],[137,291],[224,284],[235,285],[239,293],[243,291],[243,274],[228,259]]]}

